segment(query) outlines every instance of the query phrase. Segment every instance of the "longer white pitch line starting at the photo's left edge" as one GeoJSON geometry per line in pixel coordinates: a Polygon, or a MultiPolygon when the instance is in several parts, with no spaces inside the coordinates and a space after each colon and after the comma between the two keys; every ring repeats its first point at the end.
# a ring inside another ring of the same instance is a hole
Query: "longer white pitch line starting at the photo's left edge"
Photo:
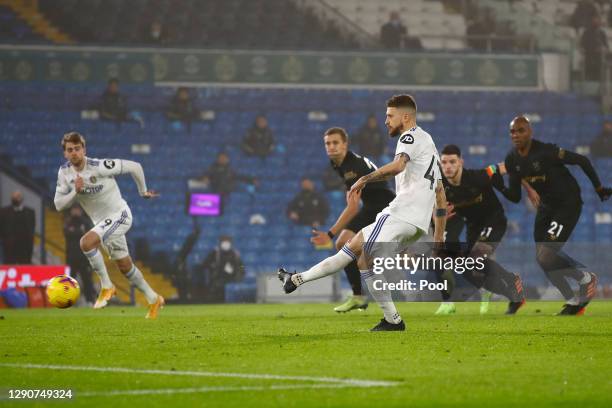
{"type": "Polygon", "coordinates": [[[73,371],[98,371],[104,373],[131,373],[131,374],[158,374],[190,377],[225,377],[225,378],[249,378],[259,380],[291,380],[307,381],[329,384],[341,384],[354,387],[393,387],[399,385],[396,381],[375,381],[359,380],[355,378],[334,378],[334,377],[311,377],[311,376],[292,376],[278,374],[248,374],[248,373],[220,373],[213,371],[179,371],[179,370],[146,370],[125,367],[95,367],[95,366],[71,366],[56,364],[17,364],[0,363],[0,367],[13,368],[38,368],[48,370],[73,370],[73,371]]]}

